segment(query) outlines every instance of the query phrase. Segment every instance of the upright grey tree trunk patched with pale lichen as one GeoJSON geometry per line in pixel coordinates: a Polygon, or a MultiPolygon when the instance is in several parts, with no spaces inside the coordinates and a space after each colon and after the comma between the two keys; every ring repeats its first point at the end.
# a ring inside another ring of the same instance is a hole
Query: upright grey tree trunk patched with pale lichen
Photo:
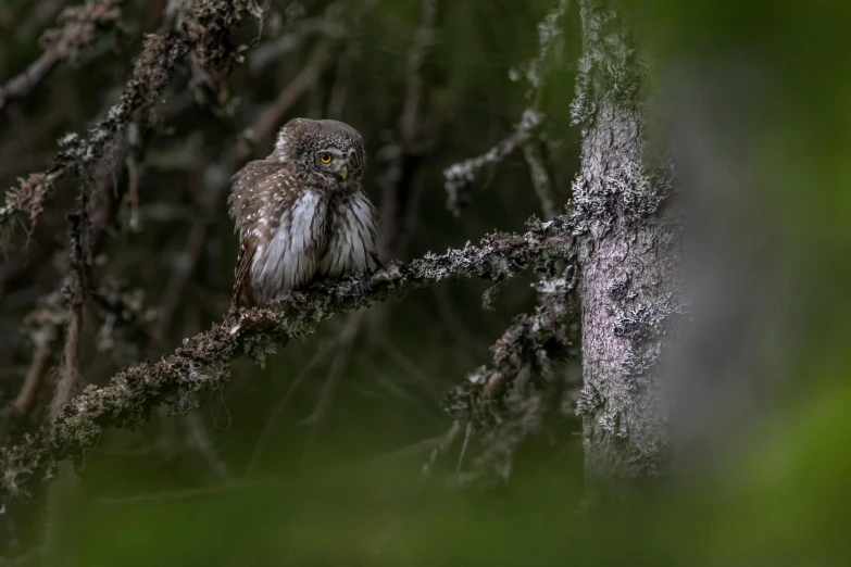
{"type": "Polygon", "coordinates": [[[583,416],[589,494],[664,474],[659,358],[679,311],[669,169],[648,143],[646,75],[613,0],[583,0],[574,182],[583,308],[583,416]]]}

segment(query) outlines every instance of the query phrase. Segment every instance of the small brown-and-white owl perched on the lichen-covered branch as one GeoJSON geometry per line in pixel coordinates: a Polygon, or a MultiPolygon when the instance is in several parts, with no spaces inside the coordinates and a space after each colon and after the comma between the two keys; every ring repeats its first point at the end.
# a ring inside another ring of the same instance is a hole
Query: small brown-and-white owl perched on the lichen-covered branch
{"type": "Polygon", "coordinates": [[[314,276],[375,270],[378,213],[361,187],[363,138],[337,121],[293,118],[275,150],[233,178],[239,232],[234,304],[279,300],[314,276]]]}

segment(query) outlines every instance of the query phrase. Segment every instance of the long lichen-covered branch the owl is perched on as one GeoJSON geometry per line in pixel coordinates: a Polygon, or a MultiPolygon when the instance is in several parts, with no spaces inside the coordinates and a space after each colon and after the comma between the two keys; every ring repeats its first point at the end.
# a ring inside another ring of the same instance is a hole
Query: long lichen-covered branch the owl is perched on
{"type": "Polygon", "coordinates": [[[221,387],[227,380],[230,362],[247,356],[262,364],[276,346],[312,333],[333,315],[443,280],[502,281],[522,274],[552,274],[572,253],[566,218],[531,220],[524,235],[490,235],[479,245],[427,254],[405,267],[384,270],[381,277],[318,282],[302,298],[231,312],[210,330],[185,339],[183,346],[159,362],[126,368],[107,387],[88,387],[55,420],[23,443],[0,449],[0,504],[26,496],[39,482],[51,480],[60,462],[84,457],[105,428],[136,426],[162,405],[185,413],[193,392],[221,387]]]}

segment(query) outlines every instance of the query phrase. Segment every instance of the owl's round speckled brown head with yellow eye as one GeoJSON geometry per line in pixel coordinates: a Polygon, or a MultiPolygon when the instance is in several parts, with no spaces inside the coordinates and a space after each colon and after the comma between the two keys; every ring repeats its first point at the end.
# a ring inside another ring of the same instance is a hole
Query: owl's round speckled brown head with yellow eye
{"type": "Polygon", "coordinates": [[[361,135],[342,122],[293,118],[280,128],[275,154],[299,175],[347,187],[360,182],[366,162],[361,135]]]}

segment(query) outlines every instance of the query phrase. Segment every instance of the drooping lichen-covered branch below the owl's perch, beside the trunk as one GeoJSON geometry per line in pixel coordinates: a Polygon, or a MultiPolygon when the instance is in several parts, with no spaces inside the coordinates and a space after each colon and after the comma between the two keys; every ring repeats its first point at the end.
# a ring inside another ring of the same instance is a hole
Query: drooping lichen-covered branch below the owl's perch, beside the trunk
{"type": "Polygon", "coordinates": [[[443,408],[472,427],[481,446],[462,480],[508,480],[515,449],[562,412],[568,390],[578,388],[565,371],[565,363],[579,357],[577,310],[571,304],[574,260],[534,285],[535,312],[515,317],[491,346],[490,363],[443,396],[443,408]]]}

